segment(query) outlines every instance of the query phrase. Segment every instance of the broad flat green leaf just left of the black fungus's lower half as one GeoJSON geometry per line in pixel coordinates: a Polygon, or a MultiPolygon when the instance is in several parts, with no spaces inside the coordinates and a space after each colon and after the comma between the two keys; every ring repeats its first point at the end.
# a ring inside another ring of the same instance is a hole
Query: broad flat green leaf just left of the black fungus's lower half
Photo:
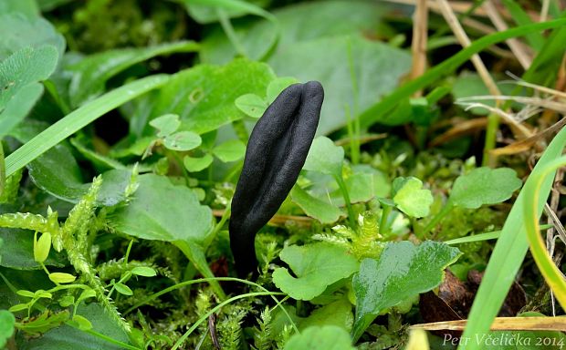
{"type": "Polygon", "coordinates": [[[110,225],[144,240],[202,244],[212,229],[212,211],[193,190],[163,176],[141,175],[133,201],[110,215],[110,225]]]}

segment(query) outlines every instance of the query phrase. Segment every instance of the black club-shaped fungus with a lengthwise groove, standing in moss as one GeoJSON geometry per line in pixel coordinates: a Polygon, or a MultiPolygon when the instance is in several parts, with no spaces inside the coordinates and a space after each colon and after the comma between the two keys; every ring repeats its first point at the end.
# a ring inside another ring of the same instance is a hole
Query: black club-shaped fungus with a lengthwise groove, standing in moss
{"type": "Polygon", "coordinates": [[[323,99],[320,82],[294,84],[257,120],[232,199],[230,246],[240,277],[257,276],[256,234],[299,177],[319,125],[323,99]]]}

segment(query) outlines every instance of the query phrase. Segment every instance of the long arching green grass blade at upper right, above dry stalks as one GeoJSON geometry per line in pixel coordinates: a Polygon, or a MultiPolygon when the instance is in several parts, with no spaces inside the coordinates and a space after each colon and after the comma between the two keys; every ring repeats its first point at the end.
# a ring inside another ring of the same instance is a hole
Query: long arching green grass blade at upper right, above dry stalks
{"type": "Polygon", "coordinates": [[[500,43],[511,37],[525,36],[532,32],[556,28],[559,26],[566,26],[566,18],[535,23],[527,26],[518,26],[503,32],[484,36],[476,40],[471,46],[462,49],[455,56],[450,57],[441,64],[431,68],[421,77],[417,77],[416,79],[404,84],[404,86],[395,89],[391,95],[383,98],[382,101],[362,112],[362,114],[358,117],[360,118],[362,128],[368,128],[378,121],[386,121],[386,116],[399,101],[402,101],[404,98],[411,97],[415,91],[430,86],[439,78],[452,74],[456,68],[460,67],[470,57],[482,51],[486,47],[500,43]]]}

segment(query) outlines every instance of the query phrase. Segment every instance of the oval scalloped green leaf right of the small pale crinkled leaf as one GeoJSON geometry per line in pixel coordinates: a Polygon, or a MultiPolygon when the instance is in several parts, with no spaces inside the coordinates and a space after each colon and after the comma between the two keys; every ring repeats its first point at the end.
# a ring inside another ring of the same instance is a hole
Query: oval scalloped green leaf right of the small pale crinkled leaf
{"type": "Polygon", "coordinates": [[[450,201],[462,208],[477,209],[485,204],[507,201],[521,184],[515,170],[477,168],[456,179],[450,201]]]}

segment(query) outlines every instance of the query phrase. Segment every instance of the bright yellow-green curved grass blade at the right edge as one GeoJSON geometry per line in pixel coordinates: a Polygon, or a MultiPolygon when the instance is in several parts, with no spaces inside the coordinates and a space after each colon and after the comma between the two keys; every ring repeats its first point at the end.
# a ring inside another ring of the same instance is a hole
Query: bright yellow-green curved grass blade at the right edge
{"type": "Polygon", "coordinates": [[[546,245],[540,237],[539,217],[541,210],[537,211],[534,203],[540,201],[540,197],[546,201],[547,196],[540,196],[540,186],[543,181],[554,179],[556,170],[566,165],[566,157],[553,160],[542,168],[536,175],[532,176],[525,188],[525,199],[523,203],[525,221],[527,227],[527,238],[529,239],[530,252],[539,266],[540,273],[544,276],[546,283],[554,292],[556,299],[561,304],[562,309],[566,310],[566,281],[562,277],[561,271],[552,261],[552,257],[546,250],[546,245]]]}

